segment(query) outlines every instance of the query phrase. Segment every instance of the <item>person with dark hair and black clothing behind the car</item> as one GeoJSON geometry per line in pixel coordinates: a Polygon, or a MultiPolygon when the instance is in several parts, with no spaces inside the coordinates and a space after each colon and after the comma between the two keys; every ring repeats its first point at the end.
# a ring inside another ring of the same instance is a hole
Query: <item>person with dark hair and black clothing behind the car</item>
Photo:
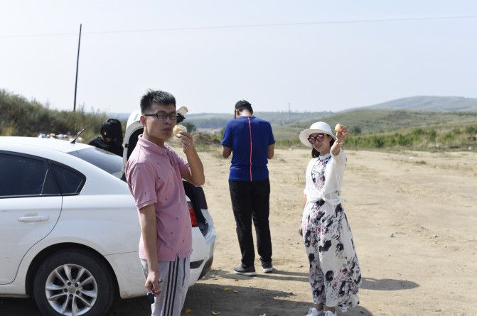
{"type": "Polygon", "coordinates": [[[97,136],[97,138],[88,144],[122,157],[124,148],[122,147],[123,136],[121,122],[117,119],[107,119],[107,121],[101,124],[100,133],[101,136],[97,136]]]}

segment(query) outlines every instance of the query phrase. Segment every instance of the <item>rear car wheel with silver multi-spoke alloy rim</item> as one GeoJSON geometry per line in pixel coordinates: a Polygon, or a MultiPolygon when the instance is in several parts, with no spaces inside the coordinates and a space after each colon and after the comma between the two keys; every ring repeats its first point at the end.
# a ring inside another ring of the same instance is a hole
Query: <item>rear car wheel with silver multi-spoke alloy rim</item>
{"type": "Polygon", "coordinates": [[[58,251],[36,271],[33,298],[43,315],[104,315],[114,300],[114,280],[95,254],[58,251]]]}

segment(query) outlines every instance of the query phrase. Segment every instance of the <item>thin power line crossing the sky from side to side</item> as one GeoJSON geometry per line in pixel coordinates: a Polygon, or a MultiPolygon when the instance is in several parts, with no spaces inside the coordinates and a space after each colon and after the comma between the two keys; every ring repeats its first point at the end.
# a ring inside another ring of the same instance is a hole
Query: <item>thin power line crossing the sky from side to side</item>
{"type": "MultiPolygon", "coordinates": [[[[150,32],[171,32],[171,31],[201,31],[220,30],[231,28],[269,28],[286,26],[313,26],[327,24],[355,24],[355,23],[383,23],[383,22],[405,22],[405,21],[446,21],[446,20],[467,20],[477,18],[477,16],[430,16],[414,18],[377,18],[367,20],[338,20],[338,21],[316,21],[316,22],[296,22],[296,23],[267,23],[267,24],[236,24],[230,26],[191,26],[182,28],[149,28],[136,30],[116,30],[116,31],[90,31],[83,32],[84,35],[97,34],[120,34],[120,33],[150,33],[150,32]]],[[[44,36],[75,36],[76,33],[45,33],[45,34],[11,34],[0,35],[0,38],[20,38],[20,37],[44,37],[44,36]]]]}

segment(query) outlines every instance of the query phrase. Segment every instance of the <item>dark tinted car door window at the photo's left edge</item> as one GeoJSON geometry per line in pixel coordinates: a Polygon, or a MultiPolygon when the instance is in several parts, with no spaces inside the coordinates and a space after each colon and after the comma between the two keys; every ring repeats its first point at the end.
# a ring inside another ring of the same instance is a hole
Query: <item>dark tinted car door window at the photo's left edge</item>
{"type": "Polygon", "coordinates": [[[59,194],[43,159],[0,153],[0,197],[59,194]]]}

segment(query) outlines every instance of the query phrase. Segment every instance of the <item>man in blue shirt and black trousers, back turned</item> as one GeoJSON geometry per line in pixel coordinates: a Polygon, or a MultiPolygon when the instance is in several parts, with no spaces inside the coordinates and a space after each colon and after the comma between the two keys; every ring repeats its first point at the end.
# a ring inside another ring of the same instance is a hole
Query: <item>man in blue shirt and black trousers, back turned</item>
{"type": "Polygon", "coordinates": [[[253,116],[252,105],[240,100],[235,104],[235,119],[227,122],[222,140],[222,155],[230,165],[229,189],[242,263],[235,273],[255,276],[255,250],[252,219],[257,233],[257,248],[265,273],[273,271],[272,240],[269,227],[270,182],[267,163],[274,154],[272,126],[253,116]]]}

